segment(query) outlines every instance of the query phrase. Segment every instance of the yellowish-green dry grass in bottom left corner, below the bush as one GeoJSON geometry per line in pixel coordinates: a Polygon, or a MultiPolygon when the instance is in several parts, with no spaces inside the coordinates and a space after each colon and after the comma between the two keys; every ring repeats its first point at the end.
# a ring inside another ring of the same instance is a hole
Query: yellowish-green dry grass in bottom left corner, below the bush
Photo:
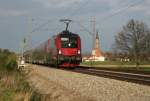
{"type": "Polygon", "coordinates": [[[0,71],[0,101],[44,101],[20,71],[0,71]]]}

